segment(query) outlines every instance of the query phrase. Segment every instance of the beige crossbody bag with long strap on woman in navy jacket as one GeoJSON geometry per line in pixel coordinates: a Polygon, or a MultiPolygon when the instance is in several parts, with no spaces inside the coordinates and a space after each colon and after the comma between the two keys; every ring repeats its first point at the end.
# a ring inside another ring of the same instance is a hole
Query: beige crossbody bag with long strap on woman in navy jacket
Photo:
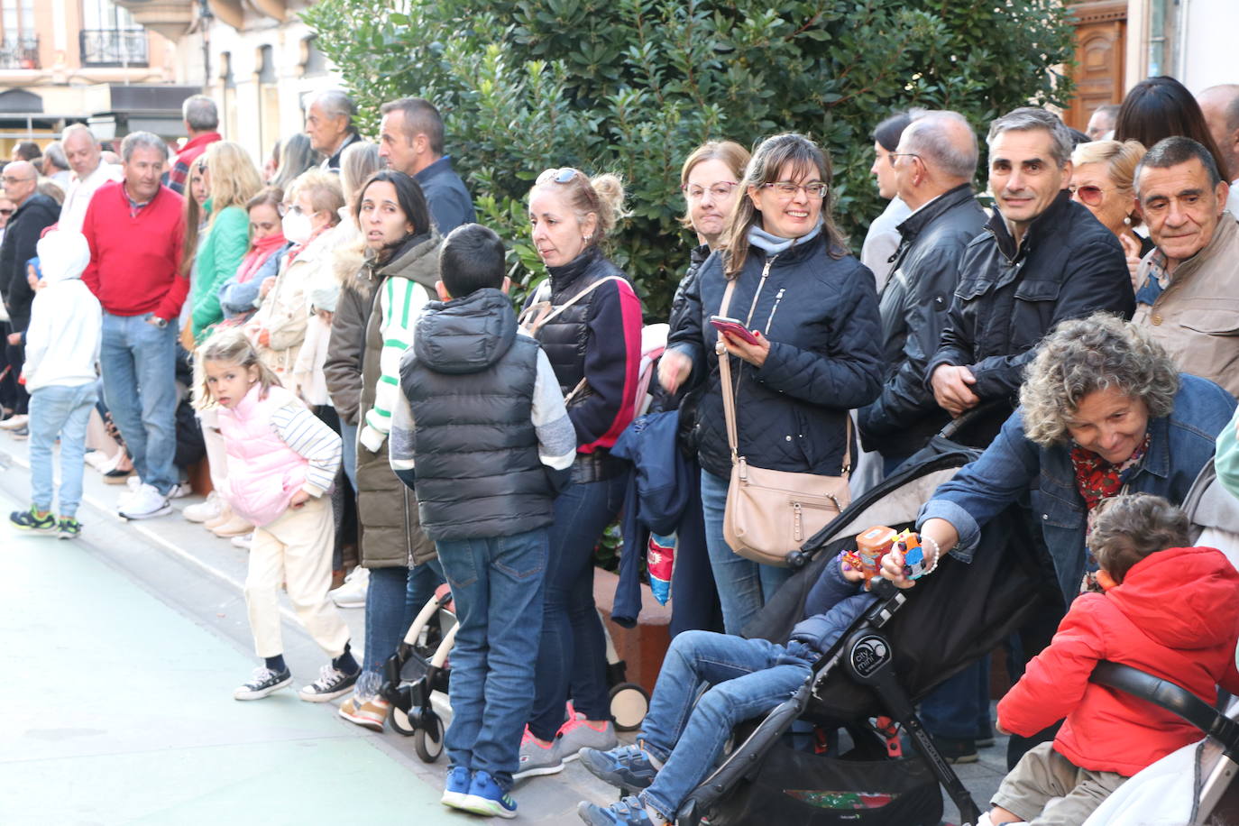
{"type": "MultiPolygon", "coordinates": [[[[736,282],[727,284],[720,316],[727,315],[736,282]]],[[[722,536],[731,550],[763,565],[787,566],[787,555],[826,526],[851,503],[851,416],[847,416],[841,476],[789,473],[753,467],[737,447],[736,395],[731,383],[731,358],[719,333],[715,346],[722,378],[722,410],[731,447],[731,484],[722,516],[722,536]]]]}

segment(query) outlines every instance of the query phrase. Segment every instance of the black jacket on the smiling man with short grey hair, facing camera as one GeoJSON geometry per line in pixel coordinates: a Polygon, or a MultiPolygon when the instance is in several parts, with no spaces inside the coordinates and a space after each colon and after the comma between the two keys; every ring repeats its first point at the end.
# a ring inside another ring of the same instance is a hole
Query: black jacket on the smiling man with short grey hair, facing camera
{"type": "Polygon", "coordinates": [[[1023,367],[1054,324],[1099,310],[1131,318],[1131,276],[1123,245],[1066,189],[1020,241],[995,212],[964,251],[959,286],[924,383],[942,364],[968,367],[981,401],[1015,404],[1023,367]]]}

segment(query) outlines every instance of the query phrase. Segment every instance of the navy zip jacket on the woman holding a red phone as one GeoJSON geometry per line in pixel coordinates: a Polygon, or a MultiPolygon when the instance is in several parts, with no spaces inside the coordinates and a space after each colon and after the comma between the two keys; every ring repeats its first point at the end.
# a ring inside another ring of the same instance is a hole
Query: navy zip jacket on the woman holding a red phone
{"type": "MultiPolygon", "coordinates": [[[[710,316],[719,313],[725,290],[722,256],[715,253],[685,290],[686,308],[670,341],[693,358],[689,380],[705,383],[698,457],[724,478],[731,474],[731,451],[710,316]]],[[[757,467],[839,476],[847,411],[872,401],[882,380],[873,274],[851,255],[830,258],[820,235],[769,259],[752,248],[727,315],[771,342],[760,369],[731,362],[740,452],[757,467]]]]}

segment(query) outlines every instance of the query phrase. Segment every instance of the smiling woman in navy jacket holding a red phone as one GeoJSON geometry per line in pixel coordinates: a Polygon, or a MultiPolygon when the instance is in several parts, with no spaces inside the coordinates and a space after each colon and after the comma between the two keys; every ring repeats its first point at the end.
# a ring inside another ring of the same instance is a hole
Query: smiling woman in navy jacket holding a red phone
{"type": "Polygon", "coordinates": [[[659,364],[664,388],[704,386],[701,504],[729,634],[738,634],[790,572],[742,559],[724,539],[731,450],[715,343],[732,358],[738,452],[756,467],[840,476],[847,411],[876,399],[882,380],[873,275],[847,254],[835,227],[826,156],[803,135],[776,135],[757,147],[740,186],[725,249],[701,266],[690,312],[659,364]],[[740,321],[756,343],[720,334],[710,322],[731,282],[721,315],[740,321]]]}

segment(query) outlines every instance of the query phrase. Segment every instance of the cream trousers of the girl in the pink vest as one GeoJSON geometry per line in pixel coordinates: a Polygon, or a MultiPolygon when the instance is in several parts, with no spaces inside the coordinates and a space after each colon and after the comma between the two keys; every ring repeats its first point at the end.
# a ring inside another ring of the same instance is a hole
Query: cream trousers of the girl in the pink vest
{"type": "Polygon", "coordinates": [[[348,625],[327,596],[335,541],[331,500],[323,497],[310,499],[301,508],[290,508],[270,525],[254,529],[245,576],[245,606],[259,656],[284,654],[281,582],[287,583],[297,619],[313,641],[333,659],[344,653],[348,625]]]}

